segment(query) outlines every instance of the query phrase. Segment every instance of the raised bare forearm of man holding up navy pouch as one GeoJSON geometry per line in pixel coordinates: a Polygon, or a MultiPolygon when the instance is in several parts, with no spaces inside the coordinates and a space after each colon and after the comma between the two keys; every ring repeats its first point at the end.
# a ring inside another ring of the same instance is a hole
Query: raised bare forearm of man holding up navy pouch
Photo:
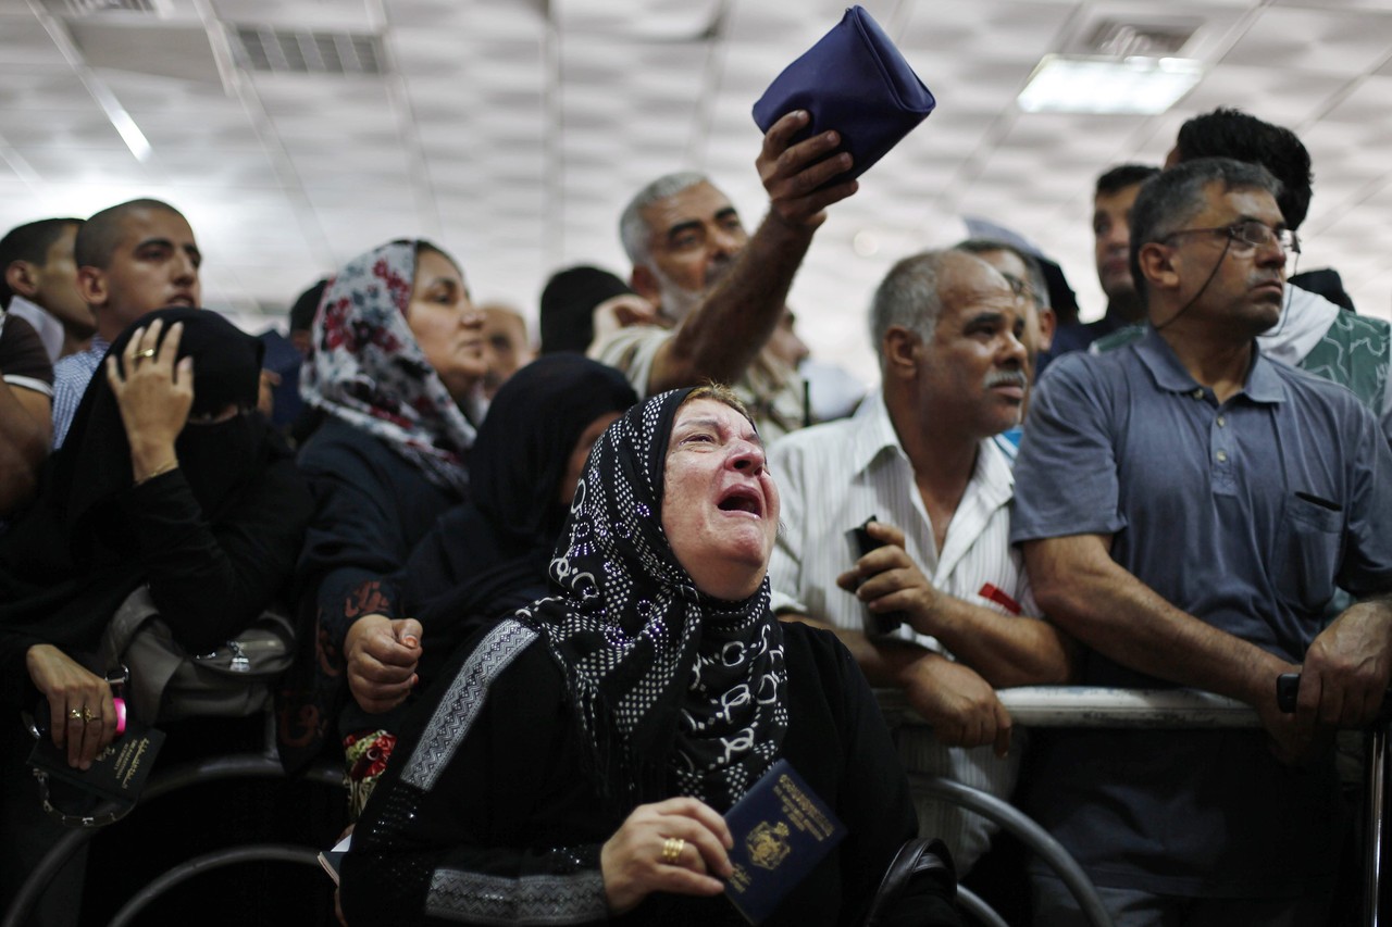
{"type": "Polygon", "coordinates": [[[813,228],[770,213],[729,273],[657,351],[649,395],[703,380],[735,383],[773,335],[813,228]]]}

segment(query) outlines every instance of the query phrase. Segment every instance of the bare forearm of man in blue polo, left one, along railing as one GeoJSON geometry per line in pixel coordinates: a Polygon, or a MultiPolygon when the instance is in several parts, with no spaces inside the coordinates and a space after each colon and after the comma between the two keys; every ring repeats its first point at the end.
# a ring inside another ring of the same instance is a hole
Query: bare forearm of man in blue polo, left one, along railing
{"type": "Polygon", "coordinates": [[[1107,539],[1027,541],[1025,561],[1050,619],[1122,665],[1258,707],[1275,700],[1275,678],[1295,670],[1171,605],[1112,561],[1107,539]]]}

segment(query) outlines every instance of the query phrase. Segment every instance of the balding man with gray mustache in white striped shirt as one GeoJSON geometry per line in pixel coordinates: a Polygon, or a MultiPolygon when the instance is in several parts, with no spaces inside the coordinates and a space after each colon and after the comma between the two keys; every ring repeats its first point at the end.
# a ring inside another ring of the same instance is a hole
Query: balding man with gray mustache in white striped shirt
{"type": "MultiPolygon", "coordinates": [[[[1029,393],[1027,308],[965,251],[901,260],[871,308],[881,388],[853,418],[768,452],[782,491],[775,611],[831,628],[871,685],[903,690],[928,722],[899,732],[905,768],[999,798],[1022,745],[995,688],[1069,675],[1068,646],[1038,618],[1009,544],[1013,477],[994,440],[1029,393]],[[871,516],[881,547],[857,558],[845,532],[871,516]],[[866,629],[894,612],[898,629],[866,629]]],[[[920,834],[942,837],[959,871],[970,869],[994,828],[927,795],[915,803],[920,834]]]]}

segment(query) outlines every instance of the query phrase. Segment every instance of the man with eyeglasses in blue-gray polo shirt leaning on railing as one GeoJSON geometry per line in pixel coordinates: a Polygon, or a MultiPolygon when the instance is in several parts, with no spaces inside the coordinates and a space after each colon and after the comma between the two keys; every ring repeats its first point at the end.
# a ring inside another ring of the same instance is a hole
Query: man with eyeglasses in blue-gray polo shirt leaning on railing
{"type": "MultiPolygon", "coordinates": [[[[1192,686],[1251,731],[1058,731],[1022,800],[1119,927],[1322,924],[1339,867],[1332,734],[1392,676],[1392,451],[1345,388],[1272,362],[1296,238],[1279,184],[1228,159],[1147,181],[1132,273],[1150,328],[1055,362],[1015,466],[1011,540],[1089,649],[1082,682],[1192,686]],[[1324,628],[1335,585],[1357,604],[1324,628]],[[1293,715],[1276,676],[1302,674],[1293,715]]],[[[1037,924],[1084,923],[1031,876],[1037,924]]]]}

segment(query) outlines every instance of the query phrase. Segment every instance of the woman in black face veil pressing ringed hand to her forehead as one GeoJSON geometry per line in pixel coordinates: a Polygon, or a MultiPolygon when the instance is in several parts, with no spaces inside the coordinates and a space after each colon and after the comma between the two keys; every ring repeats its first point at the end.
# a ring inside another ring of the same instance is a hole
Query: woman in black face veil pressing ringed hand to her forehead
{"type": "Polygon", "coordinates": [[[294,568],[310,501],[256,412],[260,356],[260,341],[213,312],[139,319],[0,539],[0,707],[42,695],[72,766],[116,735],[111,689],[82,658],[127,596],[149,585],[174,639],[206,653],[294,568]]]}

